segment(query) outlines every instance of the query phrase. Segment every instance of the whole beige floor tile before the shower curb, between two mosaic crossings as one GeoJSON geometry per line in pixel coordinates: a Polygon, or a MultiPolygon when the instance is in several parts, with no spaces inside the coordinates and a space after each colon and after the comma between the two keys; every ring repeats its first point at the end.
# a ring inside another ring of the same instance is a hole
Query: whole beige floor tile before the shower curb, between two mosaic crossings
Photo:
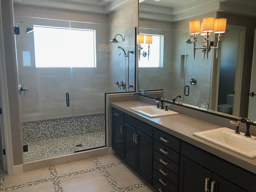
{"type": "Polygon", "coordinates": [[[72,173],[76,171],[82,171],[82,170],[90,169],[94,167],[96,167],[96,165],[92,162],[91,159],[85,159],[82,161],[76,161],[72,163],[66,163],[66,164],[55,166],[58,175],[63,175],[63,174],[72,173]]]}

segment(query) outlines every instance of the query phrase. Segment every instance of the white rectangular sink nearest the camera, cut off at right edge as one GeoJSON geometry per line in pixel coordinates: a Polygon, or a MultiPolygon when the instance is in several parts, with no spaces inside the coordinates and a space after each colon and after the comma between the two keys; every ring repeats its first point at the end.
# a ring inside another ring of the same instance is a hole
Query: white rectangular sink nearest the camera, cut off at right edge
{"type": "Polygon", "coordinates": [[[255,137],[244,137],[244,133],[234,134],[234,130],[223,127],[209,131],[193,133],[194,136],[207,140],[213,144],[229,149],[249,159],[256,157],[255,137]]]}

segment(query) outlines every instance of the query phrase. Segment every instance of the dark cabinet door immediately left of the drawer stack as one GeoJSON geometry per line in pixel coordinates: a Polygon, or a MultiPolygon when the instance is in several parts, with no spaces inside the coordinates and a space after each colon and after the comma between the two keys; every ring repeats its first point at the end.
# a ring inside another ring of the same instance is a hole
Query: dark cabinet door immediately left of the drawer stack
{"type": "Polygon", "coordinates": [[[137,130],[136,171],[152,185],[153,178],[153,138],[137,130]]]}

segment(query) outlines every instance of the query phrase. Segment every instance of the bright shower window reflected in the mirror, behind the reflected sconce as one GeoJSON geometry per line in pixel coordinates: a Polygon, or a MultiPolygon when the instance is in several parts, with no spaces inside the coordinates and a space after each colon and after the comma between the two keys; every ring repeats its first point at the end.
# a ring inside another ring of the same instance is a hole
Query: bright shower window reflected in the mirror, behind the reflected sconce
{"type": "MultiPolygon", "coordinates": [[[[149,59],[148,55],[143,57],[140,55],[139,67],[162,67],[160,62],[160,55],[161,55],[161,36],[153,35],[152,44],[150,45],[149,51],[149,59]]],[[[141,49],[140,54],[145,51],[148,53],[148,44],[146,44],[146,35],[144,35],[144,43],[140,44],[143,49],[141,49]]]]}

